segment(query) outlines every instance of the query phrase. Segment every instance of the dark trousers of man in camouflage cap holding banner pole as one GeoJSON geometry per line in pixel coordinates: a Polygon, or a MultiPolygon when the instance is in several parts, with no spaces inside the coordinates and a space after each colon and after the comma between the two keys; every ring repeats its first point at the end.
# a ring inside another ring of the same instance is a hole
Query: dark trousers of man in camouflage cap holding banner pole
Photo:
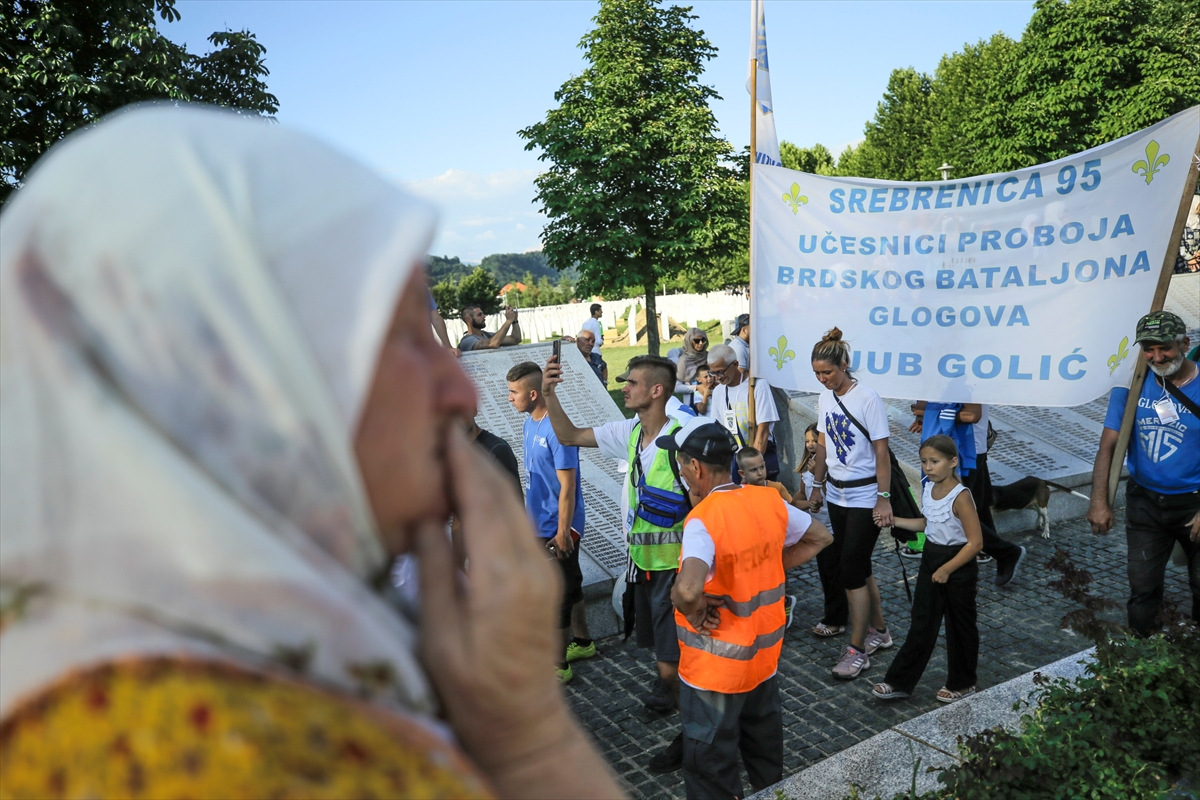
{"type": "Polygon", "coordinates": [[[1159,630],[1154,618],[1163,604],[1163,581],[1166,563],[1178,542],[1188,557],[1188,583],[1192,585],[1192,619],[1200,620],[1200,543],[1193,542],[1188,522],[1200,507],[1186,497],[1148,495],[1133,483],[1126,485],[1126,543],[1129,563],[1129,627],[1138,636],[1159,630]],[[1170,507],[1177,506],[1177,507],[1170,507]]]}

